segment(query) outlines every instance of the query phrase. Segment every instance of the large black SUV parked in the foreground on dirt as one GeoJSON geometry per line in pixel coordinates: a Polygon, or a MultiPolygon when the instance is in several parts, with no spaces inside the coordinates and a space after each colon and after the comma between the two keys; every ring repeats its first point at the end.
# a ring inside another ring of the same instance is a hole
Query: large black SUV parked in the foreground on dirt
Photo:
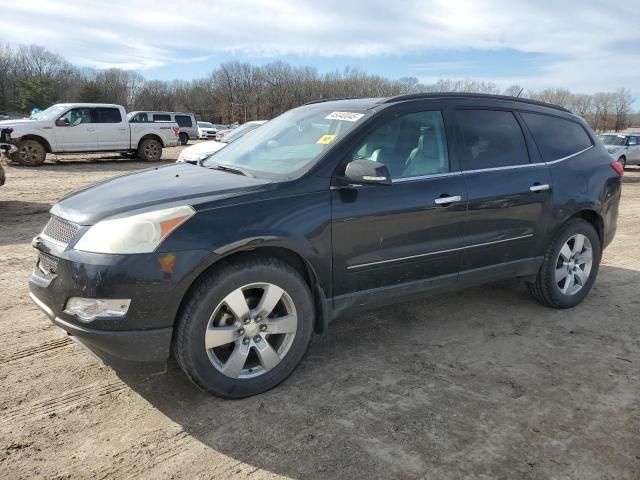
{"type": "Polygon", "coordinates": [[[511,277],[577,305],[615,234],[621,176],[552,105],[315,102],[201,165],[61,199],[34,239],[31,296],[115,368],[163,370],[171,353],[200,387],[244,397],[347,311],[511,277]]]}

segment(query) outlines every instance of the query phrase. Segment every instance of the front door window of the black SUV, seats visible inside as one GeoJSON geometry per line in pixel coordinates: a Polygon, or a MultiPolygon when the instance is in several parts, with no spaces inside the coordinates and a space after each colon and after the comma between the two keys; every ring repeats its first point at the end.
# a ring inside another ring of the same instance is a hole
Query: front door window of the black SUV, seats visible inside
{"type": "Polygon", "coordinates": [[[385,122],[356,148],[352,160],[358,159],[383,163],[393,179],[448,172],[442,113],[410,113],[385,122]]]}

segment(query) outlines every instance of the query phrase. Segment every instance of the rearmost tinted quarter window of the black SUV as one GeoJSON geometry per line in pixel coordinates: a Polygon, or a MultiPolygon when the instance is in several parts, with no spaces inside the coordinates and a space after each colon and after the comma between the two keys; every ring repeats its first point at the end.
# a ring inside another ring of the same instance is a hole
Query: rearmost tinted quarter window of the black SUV
{"type": "Polygon", "coordinates": [[[564,118],[522,112],[545,162],[568,157],[589,148],[591,138],[582,125],[564,118]]]}

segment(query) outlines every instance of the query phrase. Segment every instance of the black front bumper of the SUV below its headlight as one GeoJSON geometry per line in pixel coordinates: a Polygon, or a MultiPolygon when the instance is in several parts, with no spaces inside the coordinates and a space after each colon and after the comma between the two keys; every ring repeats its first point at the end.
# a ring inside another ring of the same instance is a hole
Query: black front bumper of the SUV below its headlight
{"type": "Polygon", "coordinates": [[[178,308],[207,252],[171,253],[168,271],[161,261],[166,253],[102,255],[43,241],[35,246],[46,268],[36,264],[30,296],[55,325],[118,371],[165,370],[178,308]],[[124,317],[84,323],[64,311],[71,297],[127,298],[131,304],[124,317]]]}

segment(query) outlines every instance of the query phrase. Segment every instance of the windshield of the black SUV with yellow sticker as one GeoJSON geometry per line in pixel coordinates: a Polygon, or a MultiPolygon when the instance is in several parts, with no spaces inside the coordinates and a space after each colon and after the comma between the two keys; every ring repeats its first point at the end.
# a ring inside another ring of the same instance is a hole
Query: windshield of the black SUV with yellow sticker
{"type": "Polygon", "coordinates": [[[364,116],[365,112],[335,112],[318,105],[289,110],[223,148],[203,166],[237,167],[256,177],[276,180],[295,178],[364,116]]]}

